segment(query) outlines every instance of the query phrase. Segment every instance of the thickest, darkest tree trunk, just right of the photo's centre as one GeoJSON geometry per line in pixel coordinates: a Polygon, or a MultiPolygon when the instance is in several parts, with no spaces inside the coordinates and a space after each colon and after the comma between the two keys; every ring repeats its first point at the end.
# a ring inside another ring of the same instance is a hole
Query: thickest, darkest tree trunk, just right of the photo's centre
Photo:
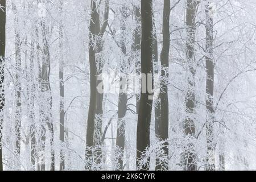
{"type": "MultiPolygon", "coordinates": [[[[150,147],[150,122],[152,113],[152,0],[141,1],[142,15],[142,42],[141,42],[141,72],[146,75],[146,83],[142,83],[141,101],[139,104],[139,115],[137,125],[137,168],[148,170],[150,158],[147,163],[140,167],[142,152],[150,147]],[[146,88],[143,86],[146,85],[146,88]],[[146,93],[144,93],[146,90],[146,93]]],[[[143,80],[142,80],[143,82],[143,80]]]]}

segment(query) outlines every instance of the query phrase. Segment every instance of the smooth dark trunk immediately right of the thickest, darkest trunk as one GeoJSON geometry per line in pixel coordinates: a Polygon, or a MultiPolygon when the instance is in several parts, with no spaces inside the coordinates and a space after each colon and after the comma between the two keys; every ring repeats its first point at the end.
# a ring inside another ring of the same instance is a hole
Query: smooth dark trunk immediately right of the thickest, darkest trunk
{"type": "MultiPolygon", "coordinates": [[[[161,52],[161,77],[169,77],[169,51],[170,51],[170,0],[164,0],[163,10],[163,49],[161,52]]],[[[168,139],[168,127],[169,127],[169,102],[168,102],[168,81],[161,81],[161,92],[160,92],[160,110],[161,119],[158,123],[158,135],[160,140],[168,139]]],[[[164,155],[168,158],[168,142],[164,143],[162,148],[164,155]]],[[[168,161],[160,160],[156,164],[156,170],[168,170],[168,161]]]]}

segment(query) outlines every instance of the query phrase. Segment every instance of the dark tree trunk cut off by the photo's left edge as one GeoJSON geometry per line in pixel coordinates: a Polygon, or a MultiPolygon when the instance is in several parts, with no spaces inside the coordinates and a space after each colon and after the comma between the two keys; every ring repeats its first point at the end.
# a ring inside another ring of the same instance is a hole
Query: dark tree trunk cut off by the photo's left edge
{"type": "Polygon", "coordinates": [[[2,156],[2,130],[3,107],[5,107],[5,26],[6,26],[6,1],[0,0],[0,171],[3,171],[2,156]]]}

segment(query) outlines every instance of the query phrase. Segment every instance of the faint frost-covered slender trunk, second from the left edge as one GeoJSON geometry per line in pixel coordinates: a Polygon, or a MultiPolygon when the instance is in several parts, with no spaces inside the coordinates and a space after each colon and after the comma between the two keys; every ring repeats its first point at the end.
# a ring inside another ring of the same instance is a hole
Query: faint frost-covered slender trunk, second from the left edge
{"type": "Polygon", "coordinates": [[[14,12],[14,33],[15,33],[15,154],[19,157],[20,155],[20,127],[21,127],[21,100],[20,100],[20,93],[21,93],[21,83],[19,78],[19,72],[21,70],[21,55],[20,55],[20,35],[18,31],[19,27],[19,19],[17,15],[16,5],[12,2],[11,3],[14,12]]]}

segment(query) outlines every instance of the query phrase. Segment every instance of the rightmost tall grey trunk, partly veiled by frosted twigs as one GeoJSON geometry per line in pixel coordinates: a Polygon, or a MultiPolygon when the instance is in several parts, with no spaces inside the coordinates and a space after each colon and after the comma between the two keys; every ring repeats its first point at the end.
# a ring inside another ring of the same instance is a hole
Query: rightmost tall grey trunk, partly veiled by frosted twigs
{"type": "Polygon", "coordinates": [[[213,17],[212,9],[209,8],[209,2],[205,6],[206,14],[206,45],[205,45],[205,65],[207,71],[207,82],[206,82],[206,109],[207,109],[207,171],[215,170],[215,156],[214,156],[214,131],[213,131],[213,119],[214,119],[214,104],[213,104],[213,93],[214,93],[214,63],[213,63],[213,17]]]}

